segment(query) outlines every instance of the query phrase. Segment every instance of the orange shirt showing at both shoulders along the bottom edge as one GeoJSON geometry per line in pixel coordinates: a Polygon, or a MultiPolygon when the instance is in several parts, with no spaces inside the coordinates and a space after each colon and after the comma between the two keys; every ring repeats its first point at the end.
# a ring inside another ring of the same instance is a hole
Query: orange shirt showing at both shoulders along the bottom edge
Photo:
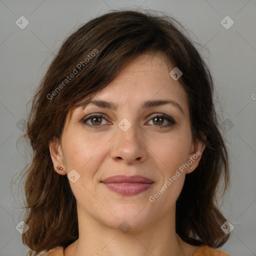
{"type": "MultiPolygon", "coordinates": [[[[41,254],[41,256],[64,256],[63,247],[58,246],[41,254]]],[[[207,245],[201,245],[191,256],[230,256],[222,250],[213,249],[207,245]]]]}

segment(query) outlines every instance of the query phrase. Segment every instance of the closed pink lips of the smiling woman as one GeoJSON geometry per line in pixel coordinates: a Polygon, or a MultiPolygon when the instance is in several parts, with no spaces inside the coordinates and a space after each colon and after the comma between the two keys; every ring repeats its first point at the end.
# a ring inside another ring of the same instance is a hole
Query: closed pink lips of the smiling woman
{"type": "Polygon", "coordinates": [[[111,191],[122,195],[135,195],[141,193],[148,190],[154,183],[151,179],[140,175],[115,175],[108,177],[101,182],[103,182],[111,191]]]}

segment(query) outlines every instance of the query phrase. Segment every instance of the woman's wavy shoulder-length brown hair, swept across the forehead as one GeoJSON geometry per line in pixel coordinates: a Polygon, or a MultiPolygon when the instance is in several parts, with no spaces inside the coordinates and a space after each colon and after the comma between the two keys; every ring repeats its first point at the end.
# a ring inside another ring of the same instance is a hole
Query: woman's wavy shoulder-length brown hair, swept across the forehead
{"type": "Polygon", "coordinates": [[[164,13],[113,10],[83,24],[64,41],[33,97],[24,135],[33,151],[23,174],[29,229],[22,241],[31,249],[29,255],[58,245],[65,248],[78,238],[76,199],[66,175],[53,169],[49,141],[60,137],[66,115],[78,100],[92,97],[144,53],[163,53],[182,71],[179,81],[188,96],[193,139],[206,145],[176,201],[176,233],[190,244],[214,248],[228,239],[220,228],[226,219],[217,206],[220,181],[223,193],[229,184],[228,154],[214,109],[213,81],[181,27],[164,13]],[[75,73],[73,78],[65,80],[70,73],[75,73]]]}

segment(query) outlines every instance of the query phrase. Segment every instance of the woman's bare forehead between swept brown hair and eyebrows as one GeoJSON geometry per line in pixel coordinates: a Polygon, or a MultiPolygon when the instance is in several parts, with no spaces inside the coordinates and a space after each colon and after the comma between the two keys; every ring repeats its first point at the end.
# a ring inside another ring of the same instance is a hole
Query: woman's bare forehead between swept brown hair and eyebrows
{"type": "Polygon", "coordinates": [[[96,97],[108,97],[145,100],[158,96],[186,98],[186,91],[179,80],[169,75],[173,67],[162,53],[143,54],[127,64],[96,97]]]}

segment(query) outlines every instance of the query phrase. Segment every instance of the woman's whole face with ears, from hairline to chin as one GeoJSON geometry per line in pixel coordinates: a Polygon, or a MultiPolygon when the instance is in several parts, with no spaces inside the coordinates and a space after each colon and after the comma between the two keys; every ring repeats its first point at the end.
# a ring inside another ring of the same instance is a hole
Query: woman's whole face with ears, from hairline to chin
{"type": "Polygon", "coordinates": [[[93,97],[97,103],[69,112],[61,138],[50,142],[85,218],[139,228],[175,210],[204,146],[192,139],[187,95],[170,70],[161,54],[136,58],[93,97]],[[106,180],[115,175],[126,177],[106,180]],[[134,175],[142,177],[127,179],[134,175]]]}

